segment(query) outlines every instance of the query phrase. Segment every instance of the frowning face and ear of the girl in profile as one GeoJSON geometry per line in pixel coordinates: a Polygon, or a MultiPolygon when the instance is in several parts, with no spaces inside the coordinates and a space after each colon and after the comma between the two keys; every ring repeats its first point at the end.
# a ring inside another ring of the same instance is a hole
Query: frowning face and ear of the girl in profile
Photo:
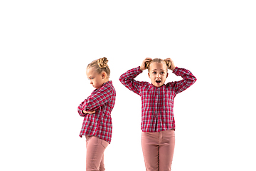
{"type": "Polygon", "coordinates": [[[100,88],[103,83],[107,82],[107,73],[97,73],[95,68],[87,68],[86,69],[86,76],[90,81],[90,84],[96,89],[100,88]]]}

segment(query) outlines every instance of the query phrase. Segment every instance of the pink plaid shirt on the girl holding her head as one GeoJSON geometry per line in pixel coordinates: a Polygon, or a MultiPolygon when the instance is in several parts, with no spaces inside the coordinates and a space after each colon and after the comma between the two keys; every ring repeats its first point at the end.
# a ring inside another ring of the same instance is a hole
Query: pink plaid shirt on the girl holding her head
{"type": "Polygon", "coordinates": [[[158,88],[152,83],[135,81],[134,78],[139,73],[142,73],[139,67],[133,68],[122,74],[119,81],[129,90],[141,96],[142,131],[175,130],[174,97],[195,83],[196,77],[190,71],[176,67],[173,73],[176,76],[181,76],[183,80],[167,83],[158,88]]]}

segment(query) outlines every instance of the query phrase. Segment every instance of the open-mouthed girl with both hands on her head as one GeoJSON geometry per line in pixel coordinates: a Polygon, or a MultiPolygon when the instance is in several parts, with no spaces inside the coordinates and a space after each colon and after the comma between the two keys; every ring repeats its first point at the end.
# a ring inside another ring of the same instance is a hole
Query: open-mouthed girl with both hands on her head
{"type": "Polygon", "coordinates": [[[120,76],[119,81],[142,99],[142,152],[146,170],[171,170],[175,144],[174,97],[196,82],[196,77],[174,65],[171,58],[145,58],[142,66],[120,76]],[[135,81],[148,69],[151,83],[135,81]],[[168,69],[183,80],[165,84],[168,69]]]}

